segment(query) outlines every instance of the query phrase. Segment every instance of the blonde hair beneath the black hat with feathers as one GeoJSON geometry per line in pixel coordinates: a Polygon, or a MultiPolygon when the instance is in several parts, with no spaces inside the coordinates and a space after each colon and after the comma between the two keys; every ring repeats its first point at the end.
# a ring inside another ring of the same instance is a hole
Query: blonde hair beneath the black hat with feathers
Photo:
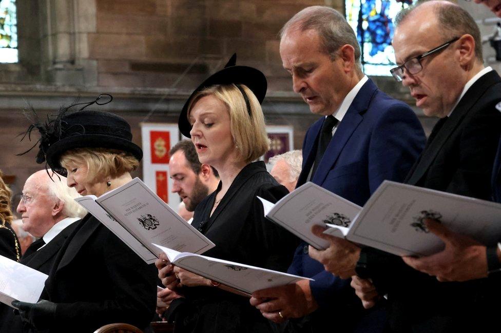
{"type": "Polygon", "coordinates": [[[139,161],[132,154],[107,148],[75,148],[61,155],[61,165],[68,168],[70,164],[87,166],[87,181],[104,182],[117,178],[126,172],[139,167],[139,161]]]}

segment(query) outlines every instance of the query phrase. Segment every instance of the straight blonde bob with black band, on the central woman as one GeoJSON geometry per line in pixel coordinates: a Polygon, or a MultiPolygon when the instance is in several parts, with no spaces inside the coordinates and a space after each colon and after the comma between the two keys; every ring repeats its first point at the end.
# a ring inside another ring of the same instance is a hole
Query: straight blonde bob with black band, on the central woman
{"type": "Polygon", "coordinates": [[[247,112],[247,105],[242,92],[235,84],[216,85],[198,92],[188,105],[187,116],[191,108],[204,96],[213,95],[226,105],[229,113],[230,128],[237,149],[239,160],[250,163],[257,160],[269,149],[269,139],[264,126],[264,115],[261,105],[251,89],[240,85],[245,91],[251,107],[251,114],[247,112]]]}

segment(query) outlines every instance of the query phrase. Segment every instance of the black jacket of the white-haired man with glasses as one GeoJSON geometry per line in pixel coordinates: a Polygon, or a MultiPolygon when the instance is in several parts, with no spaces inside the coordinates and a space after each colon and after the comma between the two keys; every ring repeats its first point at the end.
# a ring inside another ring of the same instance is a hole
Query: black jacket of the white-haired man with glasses
{"type": "MultiPolygon", "coordinates": [[[[33,249],[31,246],[28,247],[25,255],[21,258],[21,263],[48,275],[57,252],[59,252],[64,242],[77,225],[78,221],[70,224],[38,251],[35,250],[32,252],[33,249]]],[[[14,315],[14,311],[12,311],[11,308],[3,312],[0,323],[0,332],[20,333],[23,331],[29,331],[29,327],[24,327],[20,316],[14,315]]]]}

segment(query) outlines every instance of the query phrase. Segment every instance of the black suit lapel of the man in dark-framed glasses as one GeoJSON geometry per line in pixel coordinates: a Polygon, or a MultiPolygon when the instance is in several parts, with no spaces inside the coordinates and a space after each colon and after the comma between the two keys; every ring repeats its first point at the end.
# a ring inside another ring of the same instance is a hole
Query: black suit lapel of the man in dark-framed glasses
{"type": "Polygon", "coordinates": [[[452,112],[451,116],[442,125],[439,131],[436,133],[433,141],[429,146],[422,152],[416,168],[414,169],[412,175],[406,181],[407,184],[416,185],[419,180],[426,174],[431,164],[435,160],[438,152],[447,142],[447,139],[452,135],[454,130],[461,125],[461,122],[470,112],[474,110],[475,104],[478,102],[483,93],[493,84],[499,82],[499,76],[495,71],[491,71],[484,76],[480,77],[471,87],[468,89],[466,94],[461,98],[459,104],[452,112]]]}

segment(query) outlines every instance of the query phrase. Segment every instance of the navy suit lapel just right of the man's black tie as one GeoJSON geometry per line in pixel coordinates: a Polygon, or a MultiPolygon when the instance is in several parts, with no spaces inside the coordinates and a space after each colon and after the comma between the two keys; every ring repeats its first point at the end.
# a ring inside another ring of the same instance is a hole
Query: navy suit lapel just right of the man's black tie
{"type": "Polygon", "coordinates": [[[329,171],[333,168],[339,154],[346,145],[346,142],[348,142],[355,129],[363,120],[362,114],[367,111],[369,103],[376,90],[376,85],[372,82],[372,80],[368,80],[355,96],[355,99],[348,108],[348,111],[346,111],[342,121],[339,123],[329,146],[327,146],[322,160],[320,161],[320,165],[313,175],[312,181],[315,184],[321,185],[325,180],[327,173],[329,173],[329,171]]]}

